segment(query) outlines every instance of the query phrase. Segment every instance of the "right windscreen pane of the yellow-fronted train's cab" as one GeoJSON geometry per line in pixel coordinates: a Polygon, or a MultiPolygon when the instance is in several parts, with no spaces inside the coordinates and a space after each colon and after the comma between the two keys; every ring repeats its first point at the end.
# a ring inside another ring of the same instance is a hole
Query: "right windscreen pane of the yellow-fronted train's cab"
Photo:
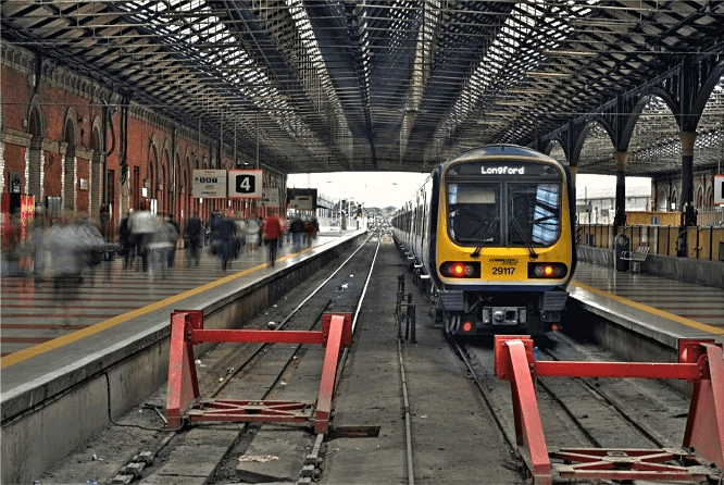
{"type": "Polygon", "coordinates": [[[561,228],[559,184],[509,184],[508,244],[550,246],[561,228]]]}

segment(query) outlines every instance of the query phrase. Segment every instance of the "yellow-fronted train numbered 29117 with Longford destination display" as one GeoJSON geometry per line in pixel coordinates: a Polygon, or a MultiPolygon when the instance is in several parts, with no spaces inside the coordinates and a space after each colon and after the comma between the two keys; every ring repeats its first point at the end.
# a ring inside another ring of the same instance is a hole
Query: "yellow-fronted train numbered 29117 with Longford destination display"
{"type": "Polygon", "coordinates": [[[569,169],[486,145],[437,166],[390,220],[451,336],[558,329],[576,268],[569,169]]]}

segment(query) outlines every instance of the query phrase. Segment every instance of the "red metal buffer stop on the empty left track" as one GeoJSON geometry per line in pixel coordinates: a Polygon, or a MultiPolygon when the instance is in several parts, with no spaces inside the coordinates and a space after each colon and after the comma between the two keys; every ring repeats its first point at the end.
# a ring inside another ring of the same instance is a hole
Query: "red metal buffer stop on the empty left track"
{"type": "Polygon", "coordinates": [[[299,423],[314,422],[316,433],[327,433],[332,413],[339,349],[352,343],[351,313],[323,315],[321,332],[203,329],[203,312],[177,310],[171,313],[168,363],[168,426],[189,422],[245,421],[299,423]],[[215,343],[320,344],[326,348],[322,383],[315,405],[291,401],[199,399],[194,345],[215,343]]]}

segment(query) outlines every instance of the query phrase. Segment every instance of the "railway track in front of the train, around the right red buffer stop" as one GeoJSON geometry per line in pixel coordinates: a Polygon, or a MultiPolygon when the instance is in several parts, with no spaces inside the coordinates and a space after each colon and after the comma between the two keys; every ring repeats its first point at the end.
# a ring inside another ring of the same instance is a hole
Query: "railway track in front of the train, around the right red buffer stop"
{"type": "MultiPolygon", "coordinates": [[[[564,334],[551,334],[537,345],[536,360],[540,361],[617,360],[597,346],[574,341],[564,334]]],[[[511,450],[516,450],[510,383],[495,376],[491,343],[451,341],[451,346],[496,416],[511,450]]],[[[663,382],[536,377],[535,387],[549,450],[681,448],[689,399],[663,382]]],[[[712,472],[709,480],[715,483],[721,476],[712,472]]]]}

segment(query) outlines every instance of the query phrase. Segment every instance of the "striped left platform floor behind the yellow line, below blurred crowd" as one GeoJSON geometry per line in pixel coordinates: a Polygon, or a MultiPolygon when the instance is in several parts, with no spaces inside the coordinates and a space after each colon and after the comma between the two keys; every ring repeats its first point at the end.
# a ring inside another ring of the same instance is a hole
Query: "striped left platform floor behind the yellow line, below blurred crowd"
{"type": "MultiPolygon", "coordinates": [[[[341,235],[339,232],[320,233],[311,247],[333,242],[341,235]]],[[[308,247],[303,245],[302,249],[308,247]]],[[[295,254],[294,244],[285,239],[278,249],[277,261],[283,263],[295,254]]],[[[33,276],[3,277],[0,312],[3,368],[7,365],[4,358],[9,355],[89,328],[220,278],[262,270],[267,261],[267,248],[260,246],[253,252],[245,248],[226,271],[222,270],[221,259],[212,254],[210,246],[201,248],[200,256],[198,266],[195,263],[189,265],[189,251],[177,250],[166,278],[151,271],[141,271],[139,257],[135,258],[129,269],[124,268],[125,262],[120,257],[103,261],[85,274],[77,298],[70,302],[59,298],[52,281],[37,282],[33,276]]],[[[14,362],[12,359],[9,361],[14,362]]]]}

